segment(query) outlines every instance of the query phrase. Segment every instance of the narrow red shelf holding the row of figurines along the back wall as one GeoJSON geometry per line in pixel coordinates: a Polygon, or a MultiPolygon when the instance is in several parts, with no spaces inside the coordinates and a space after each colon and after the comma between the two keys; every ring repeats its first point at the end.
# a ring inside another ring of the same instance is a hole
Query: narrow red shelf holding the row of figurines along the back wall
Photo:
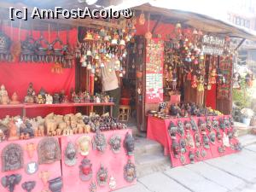
{"type": "Polygon", "coordinates": [[[59,103],[59,104],[36,104],[36,103],[21,103],[16,105],[0,105],[0,109],[3,108],[21,108],[22,116],[26,117],[26,109],[28,108],[74,108],[74,107],[91,107],[90,111],[93,111],[94,106],[103,107],[103,111],[105,111],[105,107],[110,107],[110,116],[112,116],[113,102],[83,102],[83,103],[59,103]]]}

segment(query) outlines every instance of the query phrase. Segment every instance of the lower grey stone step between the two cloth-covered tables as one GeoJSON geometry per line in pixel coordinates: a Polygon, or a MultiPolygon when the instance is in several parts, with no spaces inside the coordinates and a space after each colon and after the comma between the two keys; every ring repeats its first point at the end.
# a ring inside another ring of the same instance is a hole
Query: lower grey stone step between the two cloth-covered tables
{"type": "Polygon", "coordinates": [[[136,157],[137,177],[143,177],[153,172],[163,172],[171,167],[170,157],[164,156],[163,152],[155,154],[143,154],[136,157]]]}

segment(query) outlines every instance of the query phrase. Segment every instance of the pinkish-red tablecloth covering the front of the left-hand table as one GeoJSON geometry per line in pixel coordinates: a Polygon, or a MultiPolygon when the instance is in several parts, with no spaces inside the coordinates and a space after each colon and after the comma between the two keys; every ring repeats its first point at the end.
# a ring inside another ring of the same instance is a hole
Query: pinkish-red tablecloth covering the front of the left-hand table
{"type": "MultiPolygon", "coordinates": [[[[32,191],[38,192],[44,189],[44,185],[40,177],[38,177],[38,173],[42,171],[49,171],[49,179],[62,176],[63,189],[61,191],[63,192],[89,191],[90,183],[92,181],[96,182],[96,173],[98,172],[100,165],[102,163],[102,165],[108,169],[108,182],[109,182],[109,177],[113,176],[115,178],[116,189],[130,186],[132,184],[135,184],[137,180],[135,179],[132,183],[129,183],[129,182],[126,182],[124,178],[124,166],[126,165],[127,160],[130,159],[131,162],[134,164],[134,156],[127,156],[125,152],[125,148],[123,147],[123,142],[124,142],[125,134],[127,131],[131,133],[130,129],[104,131],[103,133],[107,139],[107,148],[104,153],[100,153],[99,151],[91,147],[90,153],[88,154],[87,158],[90,160],[90,163],[92,164],[92,177],[87,182],[83,182],[79,178],[79,166],[81,165],[81,160],[83,160],[84,158],[81,154],[79,153],[77,154],[77,163],[75,166],[66,166],[66,164],[64,163],[64,154],[65,154],[65,149],[67,147],[67,143],[72,142],[75,144],[77,138],[80,137],[81,135],[58,137],[61,145],[61,160],[55,161],[54,163],[51,163],[51,164],[39,165],[38,172],[35,172],[32,175],[26,174],[25,168],[21,168],[19,170],[15,170],[11,172],[0,172],[0,179],[6,175],[19,173],[22,178],[20,183],[15,185],[15,191],[24,191],[21,188],[21,183],[24,183],[26,181],[35,181],[36,186],[34,189],[32,189],[32,191]],[[121,148],[118,154],[114,154],[110,148],[110,145],[108,144],[109,138],[112,137],[113,135],[119,135],[122,139],[121,148]]],[[[93,141],[93,137],[95,136],[95,133],[90,133],[88,135],[91,137],[93,141]]],[[[37,149],[34,151],[34,155],[32,159],[30,159],[25,150],[26,143],[35,143],[37,146],[38,142],[41,139],[42,137],[37,137],[29,140],[3,142],[0,144],[0,151],[2,152],[3,148],[10,143],[19,144],[20,147],[24,149],[23,155],[24,155],[24,167],[25,167],[28,162],[31,162],[31,161],[38,162],[37,149]]],[[[2,158],[0,158],[0,166],[2,166],[2,158]]],[[[105,186],[101,186],[101,187],[96,183],[96,186],[97,186],[97,191],[99,192],[111,191],[111,189],[109,189],[108,183],[106,183],[105,186]]],[[[2,184],[0,184],[0,191],[7,192],[8,189],[3,188],[2,184]]]]}

